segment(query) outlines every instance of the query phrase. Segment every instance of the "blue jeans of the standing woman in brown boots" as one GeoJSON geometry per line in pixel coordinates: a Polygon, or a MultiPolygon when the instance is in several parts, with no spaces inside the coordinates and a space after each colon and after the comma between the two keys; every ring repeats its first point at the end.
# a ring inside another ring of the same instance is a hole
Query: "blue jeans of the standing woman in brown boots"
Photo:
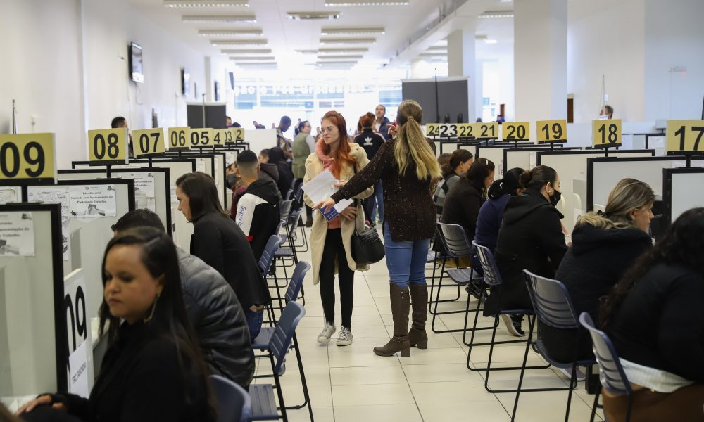
{"type": "Polygon", "coordinates": [[[384,250],[389,280],[400,288],[408,284],[425,285],[425,260],[430,239],[396,242],[391,239],[389,223],[384,222],[384,250]]]}

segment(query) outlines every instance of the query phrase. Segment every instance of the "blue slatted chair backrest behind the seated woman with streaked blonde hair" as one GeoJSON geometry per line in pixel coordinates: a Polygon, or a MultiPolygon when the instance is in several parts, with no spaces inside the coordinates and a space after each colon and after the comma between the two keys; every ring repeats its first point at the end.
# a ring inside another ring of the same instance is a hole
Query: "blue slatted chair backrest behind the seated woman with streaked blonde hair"
{"type": "Polygon", "coordinates": [[[546,279],[527,269],[523,270],[528,295],[538,319],[554,328],[580,328],[570,293],[560,281],[546,279]]]}

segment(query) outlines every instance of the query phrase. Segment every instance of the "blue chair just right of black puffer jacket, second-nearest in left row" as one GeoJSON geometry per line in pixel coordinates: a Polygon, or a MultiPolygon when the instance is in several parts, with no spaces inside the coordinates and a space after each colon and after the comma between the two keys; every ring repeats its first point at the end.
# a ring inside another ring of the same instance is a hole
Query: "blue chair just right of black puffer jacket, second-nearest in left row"
{"type": "MultiPolygon", "coordinates": [[[[251,384],[249,386],[249,397],[252,400],[251,421],[276,421],[283,419],[288,421],[286,415],[286,405],[284,404],[284,392],[281,388],[279,373],[281,373],[284,358],[291,346],[291,340],[296,334],[296,326],[306,314],[306,309],[296,302],[289,302],[281,314],[279,324],[274,328],[274,333],[267,345],[269,360],[273,369],[274,385],[271,384],[251,384]],[[276,396],[274,395],[276,389],[276,396]],[[279,408],[276,406],[276,397],[279,399],[279,408]],[[281,414],[279,415],[279,410],[281,414]]],[[[313,421],[313,411],[310,412],[313,421]]]]}

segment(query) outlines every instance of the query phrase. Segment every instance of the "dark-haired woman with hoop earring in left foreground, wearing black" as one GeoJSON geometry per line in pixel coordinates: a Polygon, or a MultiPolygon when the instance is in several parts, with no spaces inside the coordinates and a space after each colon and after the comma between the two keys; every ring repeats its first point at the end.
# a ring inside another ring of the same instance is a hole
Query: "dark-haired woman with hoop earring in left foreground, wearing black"
{"type": "Polygon", "coordinates": [[[171,239],[150,227],[121,232],[108,242],[102,274],[100,333],[107,328],[108,351],[90,397],[41,395],[18,414],[39,407],[66,411],[73,421],[214,422],[215,398],[186,315],[171,239]],[[53,409],[42,406],[49,404],[53,409]]]}

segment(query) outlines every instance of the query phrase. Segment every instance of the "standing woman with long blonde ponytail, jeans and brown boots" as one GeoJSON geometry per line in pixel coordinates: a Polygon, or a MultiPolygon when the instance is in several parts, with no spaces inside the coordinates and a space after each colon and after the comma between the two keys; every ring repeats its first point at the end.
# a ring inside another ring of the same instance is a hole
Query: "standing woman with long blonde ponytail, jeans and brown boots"
{"type": "Polygon", "coordinates": [[[384,190],[384,247],[389,270],[394,336],[375,347],[379,356],[410,356],[410,347],[428,347],[425,333],[428,290],[425,259],[435,231],[435,203],[431,181],[441,177],[435,146],[425,138],[423,110],[412,100],[398,106],[396,137],[385,142],[374,158],[332,198],[315,205],[329,209],[343,198],[352,198],[381,180],[384,190]],[[408,309],[413,298],[413,326],[408,330],[408,309]]]}

